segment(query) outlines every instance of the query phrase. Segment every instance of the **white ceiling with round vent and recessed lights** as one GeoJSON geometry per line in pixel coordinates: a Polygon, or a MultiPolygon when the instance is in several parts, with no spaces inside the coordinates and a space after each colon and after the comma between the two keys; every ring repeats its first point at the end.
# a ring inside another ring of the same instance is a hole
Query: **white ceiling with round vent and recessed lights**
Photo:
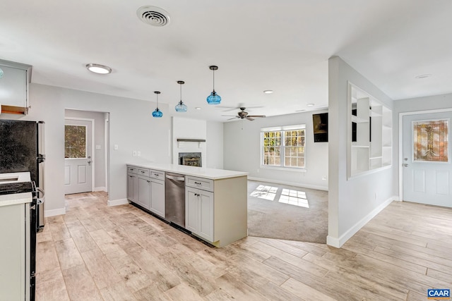
{"type": "Polygon", "coordinates": [[[267,116],[328,104],[328,58],[342,57],[392,99],[452,92],[450,0],[0,0],[0,59],[32,82],[169,104],[171,116],[226,121],[206,103],[267,116]],[[164,8],[165,27],[138,19],[164,8]],[[112,67],[109,75],[87,63],[112,67]],[[429,78],[416,75],[429,73],[429,78]],[[184,80],[187,113],[175,113],[184,80]],[[274,90],[263,94],[263,90],[274,90]],[[308,107],[314,103],[316,106],[308,107]],[[198,106],[201,110],[195,110],[198,106]]]}

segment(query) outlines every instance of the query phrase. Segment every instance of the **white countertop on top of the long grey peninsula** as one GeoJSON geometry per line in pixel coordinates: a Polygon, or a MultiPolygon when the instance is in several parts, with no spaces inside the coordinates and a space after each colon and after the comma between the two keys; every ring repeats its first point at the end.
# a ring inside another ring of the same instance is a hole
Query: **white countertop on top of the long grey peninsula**
{"type": "Polygon", "coordinates": [[[157,171],[167,171],[169,173],[181,173],[186,176],[208,178],[210,180],[248,176],[248,173],[246,173],[244,171],[227,171],[225,169],[204,168],[204,167],[185,166],[185,165],[176,165],[176,164],[141,162],[141,163],[130,163],[127,165],[136,166],[138,168],[141,167],[141,168],[154,169],[157,171]]]}

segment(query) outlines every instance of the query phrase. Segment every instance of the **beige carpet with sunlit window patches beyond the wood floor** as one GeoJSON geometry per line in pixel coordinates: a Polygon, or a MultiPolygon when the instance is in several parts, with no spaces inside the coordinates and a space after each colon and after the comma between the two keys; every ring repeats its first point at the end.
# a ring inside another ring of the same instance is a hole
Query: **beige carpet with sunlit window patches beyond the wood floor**
{"type": "Polygon", "coordinates": [[[328,192],[249,180],[248,235],[326,243],[328,192]]]}

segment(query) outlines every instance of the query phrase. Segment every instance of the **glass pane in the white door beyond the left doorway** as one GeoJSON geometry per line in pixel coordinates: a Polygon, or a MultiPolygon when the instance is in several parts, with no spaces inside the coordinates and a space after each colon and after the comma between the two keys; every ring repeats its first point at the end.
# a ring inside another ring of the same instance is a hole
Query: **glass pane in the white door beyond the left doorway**
{"type": "Polygon", "coordinates": [[[64,157],[86,158],[86,127],[64,125],[64,157]]]}

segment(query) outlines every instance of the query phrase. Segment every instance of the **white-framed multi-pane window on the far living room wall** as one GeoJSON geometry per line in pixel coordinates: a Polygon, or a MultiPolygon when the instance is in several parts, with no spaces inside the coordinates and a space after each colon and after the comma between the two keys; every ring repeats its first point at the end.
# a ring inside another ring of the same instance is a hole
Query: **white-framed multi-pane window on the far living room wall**
{"type": "Polygon", "coordinates": [[[261,166],[304,168],[305,128],[304,124],[261,128],[261,166]]]}

